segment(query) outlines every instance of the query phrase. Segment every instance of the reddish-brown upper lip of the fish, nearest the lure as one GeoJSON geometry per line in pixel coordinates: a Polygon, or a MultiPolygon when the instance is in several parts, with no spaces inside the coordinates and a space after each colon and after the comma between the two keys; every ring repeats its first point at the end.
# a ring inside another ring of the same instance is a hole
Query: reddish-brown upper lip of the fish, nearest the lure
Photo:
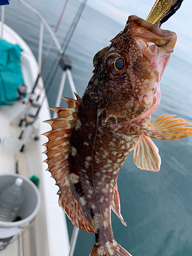
{"type": "Polygon", "coordinates": [[[161,29],[160,27],[153,25],[149,22],[146,22],[146,20],[144,20],[136,15],[129,16],[129,18],[127,20],[127,24],[130,22],[135,23],[138,26],[140,26],[158,36],[161,36],[161,37],[170,37],[170,36],[173,37],[175,35],[175,32],[161,29]]]}

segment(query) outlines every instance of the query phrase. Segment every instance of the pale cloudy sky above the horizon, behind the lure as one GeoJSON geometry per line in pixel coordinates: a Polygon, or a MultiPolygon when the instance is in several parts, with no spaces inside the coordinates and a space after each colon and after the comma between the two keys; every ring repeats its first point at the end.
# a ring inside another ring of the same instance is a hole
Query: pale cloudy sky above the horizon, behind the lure
{"type": "MultiPolygon", "coordinates": [[[[154,4],[155,0],[89,0],[87,5],[124,26],[129,15],[146,19],[154,4]]],[[[177,13],[161,28],[177,33],[175,54],[192,64],[191,26],[192,1],[184,0],[177,13]]]]}

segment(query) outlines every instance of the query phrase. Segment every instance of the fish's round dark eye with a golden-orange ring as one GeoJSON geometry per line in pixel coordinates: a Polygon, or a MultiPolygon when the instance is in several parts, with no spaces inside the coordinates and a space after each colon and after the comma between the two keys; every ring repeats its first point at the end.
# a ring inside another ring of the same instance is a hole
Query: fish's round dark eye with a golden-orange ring
{"type": "Polygon", "coordinates": [[[129,55],[123,51],[108,52],[103,61],[103,71],[109,77],[121,76],[129,65],[129,55]]]}

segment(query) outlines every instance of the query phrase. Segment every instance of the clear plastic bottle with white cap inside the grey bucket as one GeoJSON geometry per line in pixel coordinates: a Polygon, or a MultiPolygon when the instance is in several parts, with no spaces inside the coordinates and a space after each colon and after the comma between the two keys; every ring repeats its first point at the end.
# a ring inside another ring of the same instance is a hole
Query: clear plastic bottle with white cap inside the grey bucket
{"type": "Polygon", "coordinates": [[[3,190],[0,197],[0,220],[11,222],[15,219],[17,212],[24,199],[23,179],[17,178],[15,182],[3,190]]]}

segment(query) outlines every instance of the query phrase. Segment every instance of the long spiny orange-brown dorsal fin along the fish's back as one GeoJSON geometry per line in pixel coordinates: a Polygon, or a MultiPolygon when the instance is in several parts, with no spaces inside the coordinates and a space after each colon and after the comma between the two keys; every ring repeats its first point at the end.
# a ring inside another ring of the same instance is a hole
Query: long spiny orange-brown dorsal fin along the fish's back
{"type": "Polygon", "coordinates": [[[47,170],[51,173],[51,177],[55,179],[56,185],[59,187],[59,206],[66,212],[72,224],[77,228],[81,228],[88,232],[96,232],[92,216],[88,216],[84,210],[78,195],[74,191],[74,183],[72,181],[73,174],[70,173],[69,155],[72,152],[71,133],[72,129],[78,124],[78,113],[81,108],[81,99],[76,95],[77,100],[63,98],[67,101],[69,108],[49,108],[54,111],[58,118],[47,120],[44,122],[52,126],[50,132],[42,135],[48,137],[49,141],[43,145],[47,147],[44,154],[47,159],[44,161],[48,164],[47,170]]]}

